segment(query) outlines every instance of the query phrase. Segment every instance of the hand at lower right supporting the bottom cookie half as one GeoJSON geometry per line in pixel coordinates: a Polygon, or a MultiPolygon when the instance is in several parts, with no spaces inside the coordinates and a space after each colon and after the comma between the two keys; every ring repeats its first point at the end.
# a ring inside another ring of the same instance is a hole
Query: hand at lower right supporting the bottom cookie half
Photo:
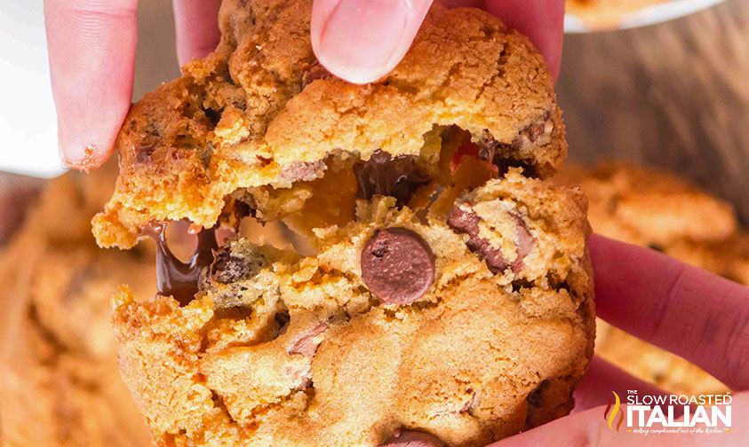
{"type": "MultiPolygon", "coordinates": [[[[749,411],[747,288],[653,250],[602,236],[593,236],[590,248],[596,268],[598,315],[627,333],[694,362],[735,390],[731,403],[734,418],[749,411]]],[[[600,423],[606,396],[614,390],[624,398],[632,389],[641,395],[663,394],[596,357],[575,391],[577,412],[491,447],[633,445],[633,434],[625,427],[610,430],[600,423]]],[[[744,424],[734,424],[730,435],[725,445],[749,441],[744,424]]],[[[649,437],[649,445],[715,445],[715,438],[709,435],[649,437]]]]}

